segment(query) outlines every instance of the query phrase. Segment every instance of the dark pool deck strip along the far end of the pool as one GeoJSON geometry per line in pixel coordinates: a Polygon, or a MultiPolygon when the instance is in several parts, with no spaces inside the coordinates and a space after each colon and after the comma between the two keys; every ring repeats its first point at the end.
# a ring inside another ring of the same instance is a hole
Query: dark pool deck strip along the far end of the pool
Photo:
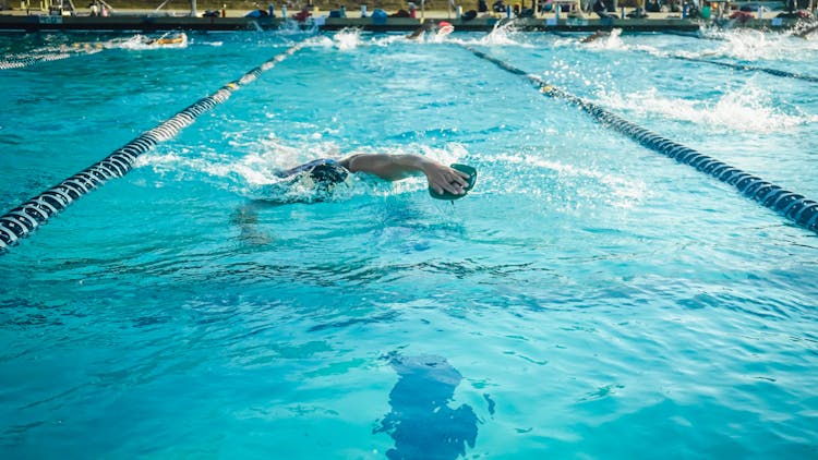
{"type": "MultiPolygon", "coordinates": [[[[201,13],[201,12],[200,12],[201,13]]],[[[282,26],[286,21],[280,17],[281,11],[276,13],[278,17],[244,17],[245,11],[227,11],[225,17],[193,17],[185,11],[118,11],[107,17],[91,16],[80,12],[77,15],[49,15],[46,12],[32,11],[4,11],[0,12],[0,31],[4,32],[62,32],[62,31],[97,31],[97,32],[157,32],[157,31],[268,31],[282,26]]],[[[723,20],[689,20],[682,19],[681,14],[649,13],[647,19],[610,19],[600,20],[594,17],[567,17],[563,13],[556,17],[554,13],[538,15],[528,19],[509,19],[504,14],[479,16],[471,21],[462,21],[454,13],[446,11],[428,11],[423,19],[435,22],[447,21],[455,26],[456,31],[466,32],[490,32],[497,24],[514,22],[518,31],[538,32],[594,32],[612,28],[621,28],[625,32],[696,32],[701,26],[713,25],[719,27],[748,27],[755,29],[784,31],[793,28],[796,20],[773,17],[777,13],[766,13],[765,19],[751,19],[745,22],[723,20]]],[[[360,17],[356,11],[349,17],[326,17],[328,12],[317,12],[317,20],[309,20],[300,25],[311,28],[317,24],[322,31],[340,31],[344,28],[360,28],[370,32],[408,32],[417,29],[422,19],[419,15],[412,17],[388,17],[386,20],[374,20],[372,17],[360,17]]]]}

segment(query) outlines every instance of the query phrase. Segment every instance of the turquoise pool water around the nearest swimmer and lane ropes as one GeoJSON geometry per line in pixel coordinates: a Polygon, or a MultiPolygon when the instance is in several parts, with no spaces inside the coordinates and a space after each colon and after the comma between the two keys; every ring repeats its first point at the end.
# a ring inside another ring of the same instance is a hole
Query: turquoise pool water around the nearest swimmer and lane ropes
{"type": "Polygon", "coordinates": [[[3,211],[306,40],[0,256],[0,452],[815,458],[816,234],[458,44],[816,199],[816,84],[674,58],[816,40],[578,37],[0,36],[3,211]],[[268,203],[366,152],[480,177],[268,203]]]}

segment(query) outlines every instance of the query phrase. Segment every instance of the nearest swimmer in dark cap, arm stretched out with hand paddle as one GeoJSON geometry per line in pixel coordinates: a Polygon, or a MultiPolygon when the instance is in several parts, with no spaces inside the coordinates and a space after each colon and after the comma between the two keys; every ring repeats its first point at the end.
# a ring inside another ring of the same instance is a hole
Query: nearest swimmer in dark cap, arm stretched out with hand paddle
{"type": "Polygon", "coordinates": [[[363,172],[386,181],[399,181],[422,173],[426,177],[431,192],[438,195],[448,193],[456,197],[465,195],[471,185],[468,173],[420,155],[358,154],[341,160],[320,159],[281,171],[277,175],[290,178],[309,173],[318,186],[328,189],[344,182],[350,172],[363,172]]]}

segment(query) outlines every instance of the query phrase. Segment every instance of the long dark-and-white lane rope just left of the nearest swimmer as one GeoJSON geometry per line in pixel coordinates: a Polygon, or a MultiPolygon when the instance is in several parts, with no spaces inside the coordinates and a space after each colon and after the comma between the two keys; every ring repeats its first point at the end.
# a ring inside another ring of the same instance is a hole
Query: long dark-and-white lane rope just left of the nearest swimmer
{"type": "Polygon", "coordinates": [[[123,177],[133,169],[139,156],[149,152],[156,144],[172,138],[201,114],[226,101],[233,92],[254,82],[263,72],[273,69],[303,47],[303,41],[291,46],[285,52],[246,72],[239,80],[226,84],[216,93],[199,99],[156,128],[140,134],[104,160],[85,168],[0,217],[0,254],[88,192],[111,179],[123,177]]]}

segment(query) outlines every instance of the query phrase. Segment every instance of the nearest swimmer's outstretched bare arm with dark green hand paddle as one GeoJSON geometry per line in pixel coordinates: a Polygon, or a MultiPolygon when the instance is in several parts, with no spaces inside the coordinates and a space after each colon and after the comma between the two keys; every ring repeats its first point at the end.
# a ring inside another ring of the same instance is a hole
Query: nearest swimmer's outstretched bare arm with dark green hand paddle
{"type": "Polygon", "coordinates": [[[462,195],[468,174],[419,155],[352,155],[340,161],[350,172],[366,172],[387,181],[399,181],[420,172],[426,175],[429,186],[437,193],[444,191],[462,195]]]}

